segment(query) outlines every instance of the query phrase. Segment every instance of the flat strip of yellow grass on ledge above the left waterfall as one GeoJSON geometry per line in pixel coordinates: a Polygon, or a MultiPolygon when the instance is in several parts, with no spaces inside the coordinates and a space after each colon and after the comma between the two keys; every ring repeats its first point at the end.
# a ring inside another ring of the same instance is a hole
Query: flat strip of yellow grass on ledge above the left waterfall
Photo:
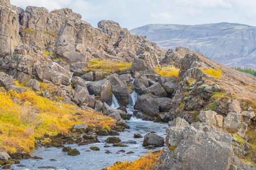
{"type": "Polygon", "coordinates": [[[88,68],[85,68],[87,71],[102,71],[102,72],[117,72],[125,71],[132,68],[132,62],[117,62],[114,60],[101,60],[101,59],[92,59],[88,63],[88,68]]]}

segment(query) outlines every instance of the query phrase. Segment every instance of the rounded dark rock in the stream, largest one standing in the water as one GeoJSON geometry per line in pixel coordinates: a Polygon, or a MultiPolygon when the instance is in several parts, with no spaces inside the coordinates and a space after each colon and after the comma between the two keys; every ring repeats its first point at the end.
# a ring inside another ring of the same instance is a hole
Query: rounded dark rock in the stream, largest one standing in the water
{"type": "Polygon", "coordinates": [[[147,133],[144,136],[142,146],[154,145],[155,147],[162,147],[164,145],[164,138],[153,133],[147,133]]]}

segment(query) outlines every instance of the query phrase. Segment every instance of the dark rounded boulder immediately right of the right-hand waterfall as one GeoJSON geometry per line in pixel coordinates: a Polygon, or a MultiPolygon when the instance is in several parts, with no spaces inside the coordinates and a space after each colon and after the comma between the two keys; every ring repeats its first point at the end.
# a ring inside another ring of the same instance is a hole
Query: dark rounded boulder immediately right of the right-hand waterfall
{"type": "Polygon", "coordinates": [[[159,113],[159,103],[147,94],[144,94],[138,98],[134,108],[142,110],[144,113],[154,117],[156,117],[159,113]]]}

